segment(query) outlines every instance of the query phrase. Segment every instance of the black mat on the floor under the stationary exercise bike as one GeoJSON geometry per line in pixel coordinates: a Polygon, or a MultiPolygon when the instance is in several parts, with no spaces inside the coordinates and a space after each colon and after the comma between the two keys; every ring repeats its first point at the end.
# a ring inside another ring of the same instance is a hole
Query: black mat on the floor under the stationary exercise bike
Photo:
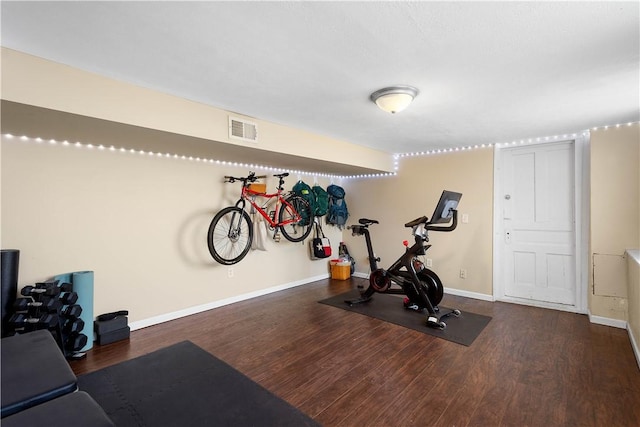
{"type": "MultiPolygon", "coordinates": [[[[359,296],[360,292],[358,290],[352,290],[319,302],[404,326],[405,328],[411,328],[466,346],[470,346],[473,343],[491,320],[491,317],[463,311],[460,317],[449,316],[442,319],[447,324],[447,327],[444,330],[438,330],[426,326],[426,312],[407,310],[402,304],[402,298],[397,295],[376,293],[369,302],[353,306],[345,302],[345,300],[353,300],[359,296]]],[[[441,306],[440,311],[445,313],[447,308],[441,306]]]]}

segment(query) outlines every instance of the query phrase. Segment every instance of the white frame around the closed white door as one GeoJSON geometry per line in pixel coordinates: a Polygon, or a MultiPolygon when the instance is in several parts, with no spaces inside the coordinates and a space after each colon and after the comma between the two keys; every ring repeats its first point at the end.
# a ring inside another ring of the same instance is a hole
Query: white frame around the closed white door
{"type": "Polygon", "coordinates": [[[588,312],[587,294],[589,288],[588,260],[589,260],[589,132],[580,134],[561,135],[535,140],[514,141],[494,145],[493,158],[493,299],[522,305],[551,308],[562,311],[586,314],[588,312]],[[576,305],[531,301],[505,295],[506,280],[502,265],[505,261],[503,253],[504,227],[501,212],[504,199],[502,197],[503,150],[518,146],[542,145],[563,141],[574,142],[574,236],[575,236],[575,280],[576,305]]]}

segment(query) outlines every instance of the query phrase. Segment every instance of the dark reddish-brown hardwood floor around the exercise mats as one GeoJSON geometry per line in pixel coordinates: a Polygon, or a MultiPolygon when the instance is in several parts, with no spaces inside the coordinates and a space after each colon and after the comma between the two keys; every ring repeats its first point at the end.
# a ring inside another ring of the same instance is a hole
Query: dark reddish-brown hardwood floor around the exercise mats
{"type": "Polygon", "coordinates": [[[80,375],[191,340],[324,426],[640,426],[627,331],[445,295],[444,306],[493,318],[465,347],[317,303],[359,280],[327,279],[137,330],[71,366],[80,375]]]}

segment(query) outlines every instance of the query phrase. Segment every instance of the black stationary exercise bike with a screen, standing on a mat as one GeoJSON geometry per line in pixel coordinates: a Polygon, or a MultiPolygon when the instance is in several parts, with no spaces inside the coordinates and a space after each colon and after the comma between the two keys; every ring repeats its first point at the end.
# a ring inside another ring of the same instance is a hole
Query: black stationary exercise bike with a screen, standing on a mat
{"type": "Polygon", "coordinates": [[[346,300],[349,305],[362,304],[370,301],[373,295],[378,293],[406,295],[404,306],[406,309],[423,311],[427,310],[427,326],[437,329],[444,329],[447,324],[442,320],[449,316],[460,316],[460,310],[452,309],[441,312],[438,304],[442,301],[444,287],[442,281],[436,273],[424,266],[418,258],[424,255],[431,247],[426,244],[429,241],[429,231],[449,232],[456,229],[458,225],[458,203],[462,194],[452,191],[443,191],[436,206],[431,221],[426,216],[416,218],[404,226],[412,229],[415,243],[409,247],[409,242],[404,241],[405,253],[394,262],[388,269],[378,267],[380,258],[376,257],[371,244],[369,226],[378,224],[373,219],[361,218],[359,225],[351,225],[351,234],[354,236],[364,235],[369,254],[369,287],[362,291],[360,298],[346,300]],[[435,225],[447,224],[449,226],[435,225]],[[394,287],[394,286],[399,286],[394,287]]]}

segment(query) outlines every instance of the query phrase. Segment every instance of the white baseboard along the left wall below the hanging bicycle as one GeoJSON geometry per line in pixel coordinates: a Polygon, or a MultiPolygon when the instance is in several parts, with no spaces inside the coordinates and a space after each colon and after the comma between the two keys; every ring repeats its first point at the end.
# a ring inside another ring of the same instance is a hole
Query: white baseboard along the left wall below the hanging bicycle
{"type": "Polygon", "coordinates": [[[179,319],[181,317],[191,316],[192,314],[202,313],[203,311],[212,310],[214,308],[222,307],[225,305],[233,304],[240,301],[245,301],[251,298],[260,297],[263,295],[268,295],[273,292],[283,291],[289,288],[295,288],[296,286],[306,285],[307,283],[316,282],[318,280],[327,279],[329,274],[321,274],[315,277],[309,277],[304,280],[298,280],[295,282],[285,283],[283,285],[272,286],[266,289],[260,289],[259,291],[249,292],[242,295],[237,295],[231,298],[226,298],[219,301],[213,301],[207,304],[197,305],[195,307],[185,308],[184,310],[178,310],[167,314],[162,314],[160,316],[150,317],[148,319],[139,320],[137,322],[132,322],[129,324],[129,327],[132,331],[136,329],[142,329],[149,326],[157,325],[160,323],[168,322],[170,320],[179,319]]]}

